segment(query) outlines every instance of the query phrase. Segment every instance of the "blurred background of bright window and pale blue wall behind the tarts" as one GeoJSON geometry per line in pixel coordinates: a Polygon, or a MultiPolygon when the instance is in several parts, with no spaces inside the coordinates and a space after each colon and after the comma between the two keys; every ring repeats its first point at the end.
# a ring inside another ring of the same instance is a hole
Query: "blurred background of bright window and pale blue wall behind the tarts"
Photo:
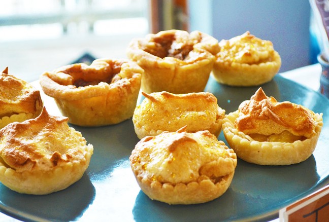
{"type": "Polygon", "coordinates": [[[35,81],[84,55],[125,58],[131,39],[174,28],[219,41],[249,30],[273,42],[280,72],[318,54],[307,0],[0,0],[0,69],[35,81]]]}

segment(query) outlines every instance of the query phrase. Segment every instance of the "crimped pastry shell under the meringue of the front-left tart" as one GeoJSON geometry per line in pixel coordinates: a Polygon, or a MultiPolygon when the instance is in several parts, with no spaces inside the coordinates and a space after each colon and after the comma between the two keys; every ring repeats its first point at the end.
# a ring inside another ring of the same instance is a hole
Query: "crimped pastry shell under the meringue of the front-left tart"
{"type": "Polygon", "coordinates": [[[78,181],[89,166],[93,147],[85,148],[85,160],[55,166],[52,170],[17,172],[0,161],[0,180],[9,189],[22,194],[45,195],[64,190],[78,181]]]}

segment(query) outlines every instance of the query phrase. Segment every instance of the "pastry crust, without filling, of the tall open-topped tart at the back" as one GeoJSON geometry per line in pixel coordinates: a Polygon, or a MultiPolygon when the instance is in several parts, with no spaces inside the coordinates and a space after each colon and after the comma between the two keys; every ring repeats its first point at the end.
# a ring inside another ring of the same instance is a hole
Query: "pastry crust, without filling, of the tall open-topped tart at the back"
{"type": "MultiPolygon", "coordinates": [[[[177,31],[167,30],[157,34],[164,35],[177,31]]],[[[207,50],[211,50],[212,46],[217,47],[213,42],[218,43],[211,36],[203,35],[208,40],[193,46],[193,52],[198,54],[199,58],[195,57],[195,59],[190,59],[187,62],[173,57],[157,57],[142,49],[141,39],[132,40],[127,49],[127,57],[137,62],[145,70],[142,76],[141,89],[146,93],[161,91],[175,94],[202,92],[207,85],[215,59],[214,55],[207,50]],[[207,46],[207,42],[209,42],[209,46],[207,46]]]]}

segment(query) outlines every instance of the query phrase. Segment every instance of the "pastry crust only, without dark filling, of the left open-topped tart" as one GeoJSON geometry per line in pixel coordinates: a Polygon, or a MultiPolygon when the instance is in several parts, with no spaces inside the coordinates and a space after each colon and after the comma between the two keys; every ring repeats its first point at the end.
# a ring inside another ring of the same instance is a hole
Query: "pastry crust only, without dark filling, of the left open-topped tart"
{"type": "MultiPolygon", "coordinates": [[[[56,70],[45,72],[40,77],[43,91],[54,98],[61,114],[69,117],[70,123],[78,126],[104,126],[120,123],[133,116],[143,69],[134,62],[110,59],[96,59],[90,67],[102,62],[122,63],[120,73],[126,78],[110,84],[100,82],[75,88],[56,82],[59,72],[56,70]]],[[[60,70],[63,69],[65,67],[60,70]]]]}

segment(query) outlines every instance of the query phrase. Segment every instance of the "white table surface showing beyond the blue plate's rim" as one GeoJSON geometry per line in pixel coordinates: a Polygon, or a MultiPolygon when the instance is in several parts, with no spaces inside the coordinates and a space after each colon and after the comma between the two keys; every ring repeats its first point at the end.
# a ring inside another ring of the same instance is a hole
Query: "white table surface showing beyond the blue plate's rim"
{"type": "MultiPolygon", "coordinates": [[[[291,71],[286,71],[280,73],[280,75],[286,79],[295,81],[301,85],[304,85],[310,89],[318,91],[320,87],[320,75],[321,75],[321,66],[320,64],[308,65],[291,71]]],[[[0,213],[0,221],[4,222],[13,222],[20,221],[14,219],[4,213],[0,213]]],[[[274,219],[271,222],[279,221],[279,219],[274,219]]]]}

